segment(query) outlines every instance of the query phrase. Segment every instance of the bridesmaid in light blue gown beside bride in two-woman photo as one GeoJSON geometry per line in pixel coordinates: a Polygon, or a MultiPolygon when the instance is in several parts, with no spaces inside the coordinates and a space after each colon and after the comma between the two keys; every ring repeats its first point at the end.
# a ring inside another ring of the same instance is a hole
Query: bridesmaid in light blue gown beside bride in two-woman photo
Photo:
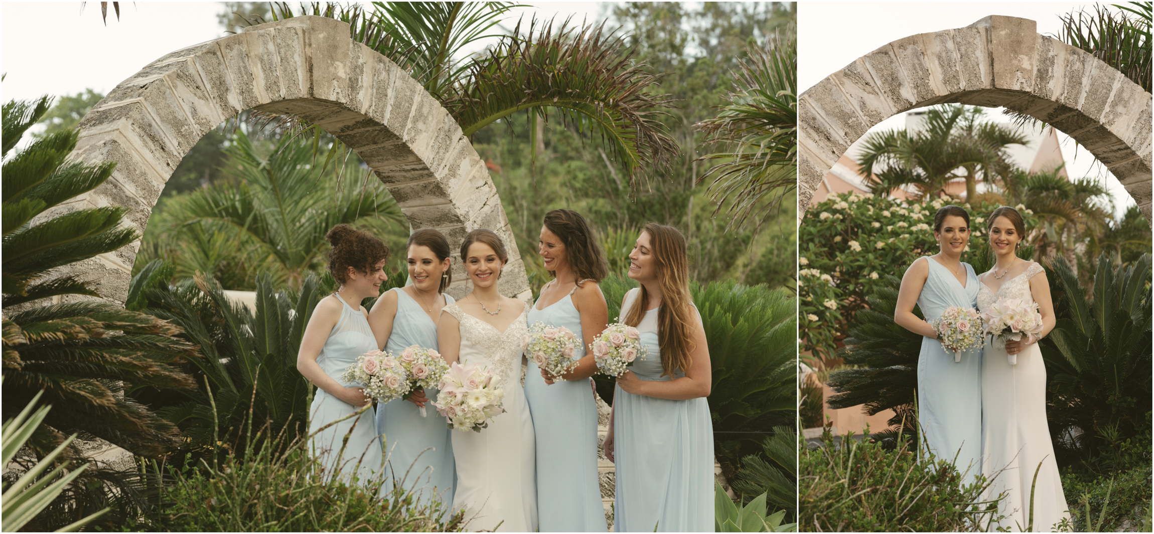
{"type": "Polygon", "coordinates": [[[939,459],[952,460],[957,454],[958,471],[976,476],[982,471],[982,354],[966,351],[954,362],[953,349],[943,347],[934,328],[914,315],[915,303],[927,321],[951,306],[976,306],[977,276],[961,262],[969,242],[969,213],[956,205],[942,206],[934,215],[934,236],[942,251],[915,260],[906,270],[893,322],[923,336],[917,356],[922,443],[939,459]]]}

